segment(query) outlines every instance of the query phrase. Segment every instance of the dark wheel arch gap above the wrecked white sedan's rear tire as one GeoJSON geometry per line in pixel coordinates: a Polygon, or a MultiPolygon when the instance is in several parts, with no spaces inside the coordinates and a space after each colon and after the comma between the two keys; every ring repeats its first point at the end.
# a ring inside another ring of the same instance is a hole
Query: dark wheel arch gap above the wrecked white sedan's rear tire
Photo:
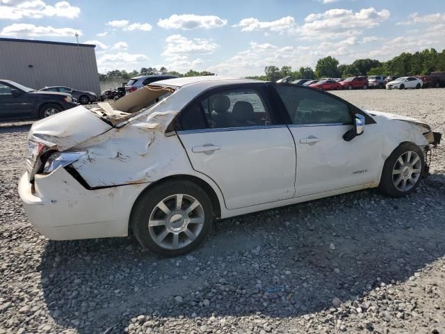
{"type": "Polygon", "coordinates": [[[130,217],[129,217],[130,218],[129,225],[128,225],[128,229],[129,229],[128,234],[129,235],[133,235],[133,228],[131,226],[131,215],[133,212],[133,208],[136,205],[136,203],[138,202],[139,198],[144,196],[145,193],[151,191],[154,186],[158,186],[159,184],[163,184],[165,182],[170,182],[170,181],[189,181],[189,182],[193,182],[197,186],[200,186],[200,188],[202,190],[204,190],[205,193],[207,193],[207,196],[209,196],[209,199],[210,199],[210,202],[212,205],[213,216],[216,218],[221,217],[220,199],[219,199],[218,194],[216,193],[215,189],[213,189],[213,187],[207,181],[202,180],[202,178],[197,177],[195,175],[189,175],[189,174],[170,175],[170,176],[163,177],[162,179],[159,179],[159,180],[149,184],[143,191],[140,192],[140,194],[136,198],[136,200],[134,200],[133,206],[131,207],[130,217]]]}

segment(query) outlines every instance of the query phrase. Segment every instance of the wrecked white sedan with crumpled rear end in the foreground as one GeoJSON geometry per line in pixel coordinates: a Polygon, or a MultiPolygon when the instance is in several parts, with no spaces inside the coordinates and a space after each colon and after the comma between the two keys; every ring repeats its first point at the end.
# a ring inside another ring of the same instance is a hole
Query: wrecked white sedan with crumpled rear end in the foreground
{"type": "Polygon", "coordinates": [[[419,120],[293,84],[169,79],[35,122],[19,194],[49,239],[133,234],[172,256],[214,218],[377,186],[412,193],[439,141],[419,120]]]}

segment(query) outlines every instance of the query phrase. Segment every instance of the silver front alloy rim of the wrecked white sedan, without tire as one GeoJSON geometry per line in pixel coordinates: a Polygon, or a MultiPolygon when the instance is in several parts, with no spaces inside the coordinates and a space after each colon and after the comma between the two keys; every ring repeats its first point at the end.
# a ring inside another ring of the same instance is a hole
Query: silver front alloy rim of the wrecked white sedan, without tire
{"type": "Polygon", "coordinates": [[[398,157],[392,170],[392,182],[398,191],[409,191],[419,181],[422,161],[413,151],[398,157]]]}

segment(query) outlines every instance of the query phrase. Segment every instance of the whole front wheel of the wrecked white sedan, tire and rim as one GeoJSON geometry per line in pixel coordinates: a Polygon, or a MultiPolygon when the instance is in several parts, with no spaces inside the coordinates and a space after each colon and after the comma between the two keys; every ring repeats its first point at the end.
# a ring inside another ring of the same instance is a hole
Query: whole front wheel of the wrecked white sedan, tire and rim
{"type": "Polygon", "coordinates": [[[401,143],[385,161],[379,190],[395,198],[410,195],[419,186],[424,167],[425,157],[419,146],[401,143]]]}

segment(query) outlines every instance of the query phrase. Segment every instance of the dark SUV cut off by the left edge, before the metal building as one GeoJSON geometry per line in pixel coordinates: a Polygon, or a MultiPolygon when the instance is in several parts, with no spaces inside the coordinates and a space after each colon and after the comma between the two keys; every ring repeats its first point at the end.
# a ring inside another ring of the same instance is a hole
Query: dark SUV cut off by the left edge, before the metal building
{"type": "Polygon", "coordinates": [[[10,80],[0,80],[0,120],[44,118],[77,106],[70,94],[38,92],[10,80]]]}

